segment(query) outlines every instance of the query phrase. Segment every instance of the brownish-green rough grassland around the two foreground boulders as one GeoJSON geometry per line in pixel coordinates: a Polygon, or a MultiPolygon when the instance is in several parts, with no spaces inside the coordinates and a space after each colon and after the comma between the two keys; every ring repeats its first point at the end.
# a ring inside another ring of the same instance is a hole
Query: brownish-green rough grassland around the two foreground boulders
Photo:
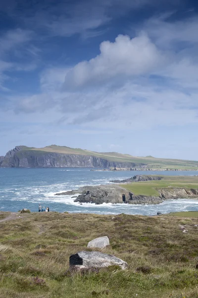
{"type": "Polygon", "coordinates": [[[20,216],[0,222],[0,298],[198,298],[198,218],[20,216]],[[103,252],[129,268],[65,274],[69,256],[103,235],[103,252]]]}

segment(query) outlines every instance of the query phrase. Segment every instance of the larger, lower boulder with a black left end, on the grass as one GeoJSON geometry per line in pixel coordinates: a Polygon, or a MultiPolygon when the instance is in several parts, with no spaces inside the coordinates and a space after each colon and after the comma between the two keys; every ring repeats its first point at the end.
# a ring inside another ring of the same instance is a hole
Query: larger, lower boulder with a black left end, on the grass
{"type": "Polygon", "coordinates": [[[79,269],[108,266],[120,266],[122,269],[126,269],[128,267],[128,264],[123,260],[99,251],[79,251],[70,256],[69,265],[79,269]]]}

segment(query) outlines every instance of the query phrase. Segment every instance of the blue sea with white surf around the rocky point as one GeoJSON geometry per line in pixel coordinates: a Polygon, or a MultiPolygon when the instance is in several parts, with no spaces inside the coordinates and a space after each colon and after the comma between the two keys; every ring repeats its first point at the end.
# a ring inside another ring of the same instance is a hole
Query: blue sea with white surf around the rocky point
{"type": "Polygon", "coordinates": [[[77,189],[84,185],[109,183],[137,174],[198,175],[197,171],[90,171],[87,168],[0,168],[0,211],[17,212],[28,208],[38,211],[38,204],[50,211],[143,214],[157,212],[198,211],[198,200],[169,200],[158,205],[87,204],[74,203],[72,196],[54,196],[57,192],[77,189]]]}

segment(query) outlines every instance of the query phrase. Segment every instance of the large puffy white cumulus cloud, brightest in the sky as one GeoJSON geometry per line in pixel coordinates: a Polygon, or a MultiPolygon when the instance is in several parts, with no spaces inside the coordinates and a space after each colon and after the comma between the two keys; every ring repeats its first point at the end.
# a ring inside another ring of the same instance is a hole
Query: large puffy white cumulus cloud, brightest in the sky
{"type": "Polygon", "coordinates": [[[163,63],[163,56],[145,34],[132,39],[118,35],[115,42],[100,44],[100,54],[96,58],[71,68],[65,76],[64,88],[106,82],[116,76],[150,74],[163,63]]]}

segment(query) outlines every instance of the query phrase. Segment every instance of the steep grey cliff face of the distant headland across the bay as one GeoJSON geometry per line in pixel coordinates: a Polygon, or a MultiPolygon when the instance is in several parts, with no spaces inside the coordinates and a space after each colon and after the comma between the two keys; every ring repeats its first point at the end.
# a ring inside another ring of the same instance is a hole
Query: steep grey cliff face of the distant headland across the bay
{"type": "Polygon", "coordinates": [[[132,162],[109,162],[89,155],[62,154],[39,150],[24,150],[18,146],[2,158],[1,167],[134,167],[132,162]]]}

